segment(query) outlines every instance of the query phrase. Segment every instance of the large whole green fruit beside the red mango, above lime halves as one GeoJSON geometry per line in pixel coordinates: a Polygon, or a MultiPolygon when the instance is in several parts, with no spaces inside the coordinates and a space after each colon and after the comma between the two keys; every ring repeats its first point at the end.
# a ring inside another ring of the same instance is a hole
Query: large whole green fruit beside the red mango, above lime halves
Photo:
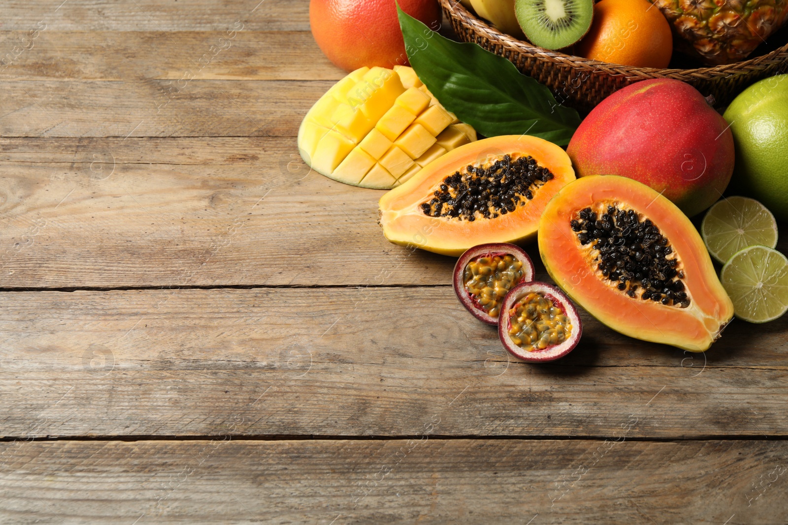
{"type": "Polygon", "coordinates": [[[788,75],[754,83],[734,98],[723,117],[736,146],[731,189],[788,220],[788,75]]]}

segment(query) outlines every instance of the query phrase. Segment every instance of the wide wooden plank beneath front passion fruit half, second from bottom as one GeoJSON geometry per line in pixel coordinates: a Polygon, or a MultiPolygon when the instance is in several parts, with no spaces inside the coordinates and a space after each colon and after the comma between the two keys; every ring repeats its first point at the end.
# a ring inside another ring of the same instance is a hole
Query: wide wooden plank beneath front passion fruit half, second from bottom
{"type": "Polygon", "coordinates": [[[199,436],[238,415],[247,435],[405,436],[438,412],[447,435],[611,436],[632,417],[633,437],[788,434],[788,320],[707,357],[584,320],[566,360],[532,366],[448,287],[6,292],[0,428],[199,436]]]}

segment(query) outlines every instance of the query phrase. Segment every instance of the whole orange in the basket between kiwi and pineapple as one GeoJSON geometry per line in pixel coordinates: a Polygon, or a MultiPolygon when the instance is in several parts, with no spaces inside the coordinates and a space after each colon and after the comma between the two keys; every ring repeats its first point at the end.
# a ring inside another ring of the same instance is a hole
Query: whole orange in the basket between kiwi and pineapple
{"type": "Polygon", "coordinates": [[[577,44],[580,57],[639,68],[667,68],[673,53],[671,26],[646,0],[602,0],[577,44]]]}

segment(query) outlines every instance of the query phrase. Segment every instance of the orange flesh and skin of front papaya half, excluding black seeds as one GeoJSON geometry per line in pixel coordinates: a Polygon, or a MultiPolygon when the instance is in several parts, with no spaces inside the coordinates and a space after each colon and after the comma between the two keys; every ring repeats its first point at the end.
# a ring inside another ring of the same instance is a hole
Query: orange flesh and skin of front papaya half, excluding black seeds
{"type": "Polygon", "coordinates": [[[602,324],[632,338],[703,352],[733,318],[733,303],[717,278],[701,235],[675,204],[633,179],[586,176],[563,187],[540,220],[539,254],[548,274],[573,301],[602,324]],[[685,284],[692,298],[689,307],[633,301],[588,273],[593,270],[580,255],[569,219],[593,202],[608,199],[641,212],[649,209],[646,215],[671,240],[685,268],[685,284]]]}

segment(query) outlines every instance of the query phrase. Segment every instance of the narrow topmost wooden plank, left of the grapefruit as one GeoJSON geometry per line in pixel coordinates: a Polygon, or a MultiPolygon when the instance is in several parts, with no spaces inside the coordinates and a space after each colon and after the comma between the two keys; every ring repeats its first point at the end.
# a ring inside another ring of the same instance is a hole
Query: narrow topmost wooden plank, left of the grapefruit
{"type": "MultiPolygon", "coordinates": [[[[307,0],[54,0],[3,2],[6,31],[224,31],[236,20],[247,31],[309,31],[307,0]]],[[[173,36],[174,38],[174,36],[173,36]]]]}

